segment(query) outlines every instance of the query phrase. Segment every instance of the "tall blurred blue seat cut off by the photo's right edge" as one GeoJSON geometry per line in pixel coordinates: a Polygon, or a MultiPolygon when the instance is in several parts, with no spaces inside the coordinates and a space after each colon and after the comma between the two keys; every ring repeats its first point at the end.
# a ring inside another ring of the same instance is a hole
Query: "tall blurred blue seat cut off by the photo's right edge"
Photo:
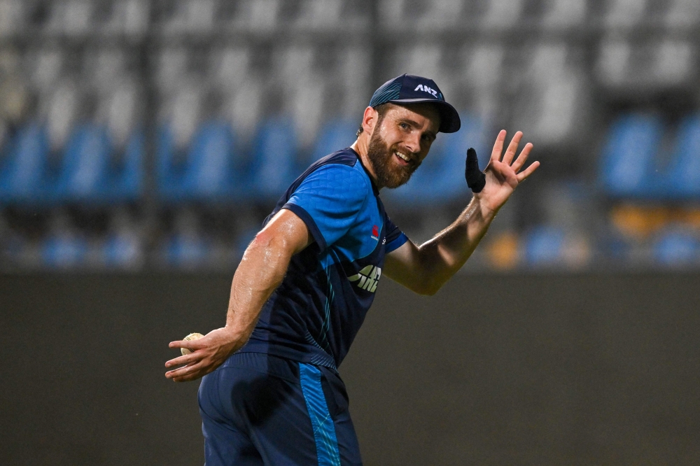
{"type": "Polygon", "coordinates": [[[664,180],[664,197],[700,197],[700,115],[685,118],[680,123],[673,160],[664,180]]]}

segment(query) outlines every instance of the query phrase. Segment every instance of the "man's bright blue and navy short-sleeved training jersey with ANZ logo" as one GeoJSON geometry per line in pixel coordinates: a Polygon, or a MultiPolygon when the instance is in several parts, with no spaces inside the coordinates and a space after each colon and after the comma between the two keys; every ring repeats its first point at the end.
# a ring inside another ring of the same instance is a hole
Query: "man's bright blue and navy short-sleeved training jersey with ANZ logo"
{"type": "Polygon", "coordinates": [[[384,255],[407,237],[389,220],[379,190],[351,148],[304,171],[265,224],[280,209],[299,216],[315,241],[292,257],[240,351],[335,369],[372,305],[384,255]]]}

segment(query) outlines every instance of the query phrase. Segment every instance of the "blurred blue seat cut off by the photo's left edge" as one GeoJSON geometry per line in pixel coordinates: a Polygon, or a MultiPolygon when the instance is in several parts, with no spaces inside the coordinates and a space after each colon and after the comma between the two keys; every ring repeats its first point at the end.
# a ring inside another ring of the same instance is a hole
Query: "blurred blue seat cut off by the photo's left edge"
{"type": "Polygon", "coordinates": [[[45,202],[50,184],[47,173],[48,136],[45,127],[31,123],[8,143],[0,167],[0,202],[45,202]]]}

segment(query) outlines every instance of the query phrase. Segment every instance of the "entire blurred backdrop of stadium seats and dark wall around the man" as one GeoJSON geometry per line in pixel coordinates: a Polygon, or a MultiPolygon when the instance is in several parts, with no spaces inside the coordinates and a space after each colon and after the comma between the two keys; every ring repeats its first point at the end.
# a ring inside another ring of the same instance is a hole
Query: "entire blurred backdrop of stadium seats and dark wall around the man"
{"type": "Polygon", "coordinates": [[[435,297],[382,282],[365,464],[700,464],[699,47],[698,0],[0,0],[3,464],[202,464],[167,342],[401,73],[462,115],[381,193],[414,241],[499,129],[542,167],[435,297]]]}

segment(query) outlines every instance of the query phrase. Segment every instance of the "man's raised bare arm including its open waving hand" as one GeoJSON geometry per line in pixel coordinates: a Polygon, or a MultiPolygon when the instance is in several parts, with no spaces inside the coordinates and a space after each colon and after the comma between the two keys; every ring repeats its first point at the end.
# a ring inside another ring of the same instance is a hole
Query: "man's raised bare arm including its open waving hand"
{"type": "Polygon", "coordinates": [[[407,241],[386,255],[384,273],[394,281],[421,295],[434,295],[458,271],[474,252],[486,234],[489,225],[517,185],[530,176],[539,162],[533,162],[520,171],[532,150],[527,143],[514,159],[522,133],[517,132],[508,146],[503,160],[505,130],[493,145],[491,160],[486,167],[486,185],[475,193],[472,201],[457,220],[421,246],[407,241]]]}

